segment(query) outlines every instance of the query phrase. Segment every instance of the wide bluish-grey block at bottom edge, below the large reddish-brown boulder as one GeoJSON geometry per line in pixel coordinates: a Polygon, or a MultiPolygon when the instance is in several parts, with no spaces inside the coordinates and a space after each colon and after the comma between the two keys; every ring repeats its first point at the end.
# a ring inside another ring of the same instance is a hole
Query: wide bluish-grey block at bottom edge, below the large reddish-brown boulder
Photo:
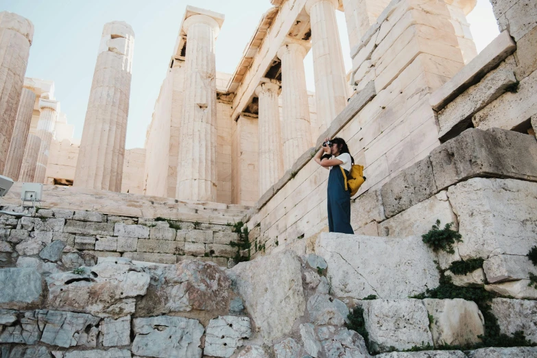
{"type": "Polygon", "coordinates": [[[132,353],[150,357],[201,357],[204,328],[198,320],[160,315],[134,318],[132,353]],[[171,338],[169,338],[171,337],[171,338]]]}

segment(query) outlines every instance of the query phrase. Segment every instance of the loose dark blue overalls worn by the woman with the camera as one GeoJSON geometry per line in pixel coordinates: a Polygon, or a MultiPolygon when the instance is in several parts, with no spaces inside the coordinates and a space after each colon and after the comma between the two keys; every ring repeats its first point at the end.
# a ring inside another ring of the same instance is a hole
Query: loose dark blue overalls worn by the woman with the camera
{"type": "MultiPolygon", "coordinates": [[[[348,176],[348,171],[345,174],[348,176]]],[[[339,165],[330,170],[327,197],[329,231],[354,234],[350,226],[350,193],[345,190],[345,179],[339,165]]]]}

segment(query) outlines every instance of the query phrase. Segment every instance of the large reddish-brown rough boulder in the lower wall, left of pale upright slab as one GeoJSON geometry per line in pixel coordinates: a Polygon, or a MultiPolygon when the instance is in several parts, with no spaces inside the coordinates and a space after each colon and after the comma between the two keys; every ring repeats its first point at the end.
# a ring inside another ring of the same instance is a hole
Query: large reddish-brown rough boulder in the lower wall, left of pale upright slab
{"type": "Polygon", "coordinates": [[[215,263],[181,261],[152,272],[147,296],[137,313],[158,315],[169,312],[224,311],[230,300],[231,281],[215,263]]]}

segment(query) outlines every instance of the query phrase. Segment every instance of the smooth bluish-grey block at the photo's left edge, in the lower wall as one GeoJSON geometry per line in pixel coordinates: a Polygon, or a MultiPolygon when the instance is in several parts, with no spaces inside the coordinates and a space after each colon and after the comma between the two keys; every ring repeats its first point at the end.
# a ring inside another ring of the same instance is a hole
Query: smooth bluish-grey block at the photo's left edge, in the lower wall
{"type": "Polygon", "coordinates": [[[0,307],[29,309],[41,302],[41,275],[28,268],[0,269],[0,307]]]}

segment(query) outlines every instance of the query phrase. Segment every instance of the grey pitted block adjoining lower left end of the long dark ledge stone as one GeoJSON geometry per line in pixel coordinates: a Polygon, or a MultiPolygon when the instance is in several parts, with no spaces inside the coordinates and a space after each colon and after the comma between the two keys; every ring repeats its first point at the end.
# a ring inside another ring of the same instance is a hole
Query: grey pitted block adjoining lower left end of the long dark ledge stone
{"type": "Polygon", "coordinates": [[[390,218],[425,199],[431,198],[437,192],[433,165],[427,156],[411,167],[403,169],[382,186],[384,213],[387,218],[390,218]]]}

